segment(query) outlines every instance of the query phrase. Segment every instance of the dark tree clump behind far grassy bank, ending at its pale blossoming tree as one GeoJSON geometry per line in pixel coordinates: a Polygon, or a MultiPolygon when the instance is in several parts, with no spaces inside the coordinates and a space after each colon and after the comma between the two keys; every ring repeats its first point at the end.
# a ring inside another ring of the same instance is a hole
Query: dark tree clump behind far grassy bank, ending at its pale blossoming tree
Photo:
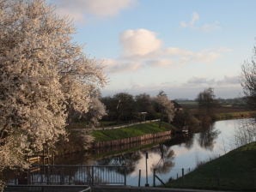
{"type": "Polygon", "coordinates": [[[129,93],[116,93],[112,97],[102,97],[101,102],[106,106],[105,121],[143,121],[161,118],[171,122],[174,118],[174,103],[164,92],[155,97],[147,93],[133,96],[129,93]]]}

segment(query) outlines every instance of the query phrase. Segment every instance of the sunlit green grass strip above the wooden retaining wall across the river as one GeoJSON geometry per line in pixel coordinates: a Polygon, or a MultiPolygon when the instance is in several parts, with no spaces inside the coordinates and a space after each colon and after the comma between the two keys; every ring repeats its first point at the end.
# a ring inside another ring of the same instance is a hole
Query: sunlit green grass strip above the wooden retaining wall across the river
{"type": "Polygon", "coordinates": [[[95,141],[111,141],[146,134],[155,134],[170,129],[174,129],[174,127],[168,123],[162,123],[161,128],[159,128],[158,122],[143,123],[121,129],[94,130],[92,135],[95,141]]]}

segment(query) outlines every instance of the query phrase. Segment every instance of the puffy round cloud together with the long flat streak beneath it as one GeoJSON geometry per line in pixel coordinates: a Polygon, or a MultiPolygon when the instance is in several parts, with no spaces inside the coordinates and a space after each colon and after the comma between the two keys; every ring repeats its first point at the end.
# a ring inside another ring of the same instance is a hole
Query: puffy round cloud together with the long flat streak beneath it
{"type": "MultiPolygon", "coordinates": [[[[194,19],[196,20],[196,19],[194,19]]],[[[128,72],[137,69],[168,68],[189,63],[213,63],[228,48],[191,51],[180,47],[165,47],[157,33],[148,29],[129,29],[119,36],[121,54],[118,58],[105,58],[107,73],[128,72]]]]}

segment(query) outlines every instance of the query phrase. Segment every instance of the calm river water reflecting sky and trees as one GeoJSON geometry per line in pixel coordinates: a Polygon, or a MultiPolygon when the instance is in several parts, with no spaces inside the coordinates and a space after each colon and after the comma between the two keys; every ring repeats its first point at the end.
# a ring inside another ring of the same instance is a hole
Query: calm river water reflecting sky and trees
{"type": "MultiPolygon", "coordinates": [[[[152,186],[153,170],[167,182],[170,178],[181,176],[184,172],[192,171],[204,162],[216,159],[235,148],[235,129],[246,119],[217,121],[204,131],[189,136],[180,136],[154,147],[140,149],[132,153],[121,153],[105,158],[94,158],[91,154],[80,157],[72,156],[59,164],[76,165],[127,165],[127,184],[137,186],[139,170],[141,182],[152,186]],[[148,153],[148,182],[146,178],[146,155],[148,153]],[[69,161],[70,160],[70,161],[69,161]]],[[[81,154],[80,154],[81,155],[81,154]]],[[[160,184],[157,180],[156,184],[160,184]]]]}

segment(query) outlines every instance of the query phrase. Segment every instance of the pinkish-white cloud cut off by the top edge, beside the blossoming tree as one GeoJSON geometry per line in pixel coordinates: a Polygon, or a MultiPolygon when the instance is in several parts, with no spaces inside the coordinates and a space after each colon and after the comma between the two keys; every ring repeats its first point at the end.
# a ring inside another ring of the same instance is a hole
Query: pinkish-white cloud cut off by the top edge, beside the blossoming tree
{"type": "Polygon", "coordinates": [[[75,21],[84,21],[85,15],[108,17],[130,8],[137,0],[50,0],[57,4],[60,15],[69,15],[75,21]]]}

